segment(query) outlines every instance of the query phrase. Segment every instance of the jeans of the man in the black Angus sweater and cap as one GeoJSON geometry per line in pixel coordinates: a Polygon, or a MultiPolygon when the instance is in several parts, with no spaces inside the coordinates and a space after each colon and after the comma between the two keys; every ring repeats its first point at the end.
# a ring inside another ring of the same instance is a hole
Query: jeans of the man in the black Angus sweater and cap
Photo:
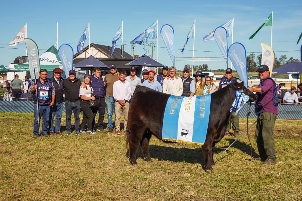
{"type": "Polygon", "coordinates": [[[66,130],[71,132],[71,114],[75,118],[75,130],[76,133],[80,133],[80,101],[69,102],[65,100],[66,110],[66,130]]]}

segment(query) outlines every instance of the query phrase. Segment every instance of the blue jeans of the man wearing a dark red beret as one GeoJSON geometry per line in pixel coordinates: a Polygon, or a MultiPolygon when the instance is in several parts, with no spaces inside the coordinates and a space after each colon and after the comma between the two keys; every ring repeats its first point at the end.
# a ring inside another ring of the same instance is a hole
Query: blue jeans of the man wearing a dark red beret
{"type": "Polygon", "coordinates": [[[63,112],[63,102],[55,103],[52,107],[50,107],[50,115],[49,115],[49,132],[59,132],[61,131],[61,116],[63,112]],[[53,127],[53,120],[56,115],[56,129],[53,127]]]}

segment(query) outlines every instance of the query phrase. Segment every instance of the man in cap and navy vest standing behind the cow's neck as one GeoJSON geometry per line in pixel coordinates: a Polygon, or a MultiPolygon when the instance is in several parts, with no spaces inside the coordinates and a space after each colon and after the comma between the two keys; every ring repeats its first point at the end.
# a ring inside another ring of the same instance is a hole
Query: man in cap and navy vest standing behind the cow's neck
{"type": "MultiPolygon", "coordinates": [[[[230,83],[239,80],[237,77],[233,77],[233,70],[228,68],[226,69],[226,76],[223,76],[220,80],[218,89],[222,89],[223,87],[229,85],[230,83]]],[[[239,115],[235,115],[235,112],[232,113],[230,122],[226,128],[225,135],[230,135],[230,129],[232,128],[234,131],[234,135],[236,138],[239,137],[239,115]]]]}

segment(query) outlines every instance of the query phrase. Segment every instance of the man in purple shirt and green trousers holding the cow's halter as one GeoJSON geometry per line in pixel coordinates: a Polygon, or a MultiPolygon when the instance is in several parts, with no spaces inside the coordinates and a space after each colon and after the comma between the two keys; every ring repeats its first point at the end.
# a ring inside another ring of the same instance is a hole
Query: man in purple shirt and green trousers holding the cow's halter
{"type": "Polygon", "coordinates": [[[275,141],[273,129],[278,115],[278,106],[273,104],[274,84],[270,77],[268,66],[259,66],[258,75],[261,79],[258,87],[249,87],[251,92],[257,92],[255,112],[258,115],[256,125],[256,143],[260,157],[264,164],[275,164],[275,141]]]}

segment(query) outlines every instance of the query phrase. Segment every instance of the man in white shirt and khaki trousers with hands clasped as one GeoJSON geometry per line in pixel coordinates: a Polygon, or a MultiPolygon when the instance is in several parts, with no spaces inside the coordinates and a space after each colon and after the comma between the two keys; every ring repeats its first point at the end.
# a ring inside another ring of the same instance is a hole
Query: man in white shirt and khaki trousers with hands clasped
{"type": "Polygon", "coordinates": [[[120,117],[124,113],[124,131],[127,128],[129,101],[131,98],[130,82],[125,80],[126,71],[120,72],[120,80],[113,84],[113,97],[115,99],[115,132],[120,135],[120,117]]]}

